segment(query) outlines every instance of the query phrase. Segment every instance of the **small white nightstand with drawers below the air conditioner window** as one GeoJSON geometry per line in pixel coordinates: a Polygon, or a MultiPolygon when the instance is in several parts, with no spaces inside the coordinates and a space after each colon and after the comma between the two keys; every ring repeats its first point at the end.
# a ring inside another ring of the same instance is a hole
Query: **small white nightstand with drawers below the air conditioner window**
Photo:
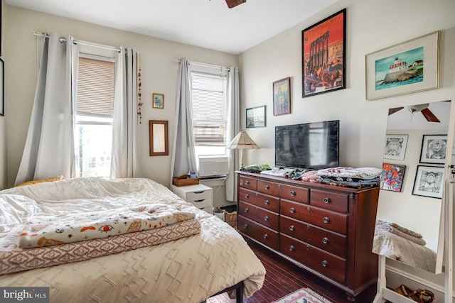
{"type": "Polygon", "coordinates": [[[176,186],[172,185],[172,191],[186,202],[190,202],[198,209],[213,214],[212,188],[203,184],[176,186]]]}

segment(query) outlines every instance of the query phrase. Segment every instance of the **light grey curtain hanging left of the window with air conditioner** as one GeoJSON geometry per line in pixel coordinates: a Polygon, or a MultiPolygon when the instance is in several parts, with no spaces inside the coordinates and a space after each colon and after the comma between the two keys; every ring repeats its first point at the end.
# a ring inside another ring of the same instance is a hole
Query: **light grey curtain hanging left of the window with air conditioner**
{"type": "Polygon", "coordinates": [[[186,57],[180,60],[177,77],[176,131],[171,158],[171,185],[173,176],[185,175],[188,171],[196,172],[190,74],[186,57]]]}

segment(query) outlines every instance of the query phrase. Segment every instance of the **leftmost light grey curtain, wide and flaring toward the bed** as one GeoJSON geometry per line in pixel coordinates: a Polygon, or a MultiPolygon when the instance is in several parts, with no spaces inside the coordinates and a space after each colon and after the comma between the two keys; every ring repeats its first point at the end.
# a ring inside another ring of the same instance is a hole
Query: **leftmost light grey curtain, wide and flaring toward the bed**
{"type": "Polygon", "coordinates": [[[77,45],[56,33],[45,38],[26,145],[15,185],[29,180],[75,176],[73,100],[77,45]],[[76,54],[76,55],[74,55],[76,54]]]}

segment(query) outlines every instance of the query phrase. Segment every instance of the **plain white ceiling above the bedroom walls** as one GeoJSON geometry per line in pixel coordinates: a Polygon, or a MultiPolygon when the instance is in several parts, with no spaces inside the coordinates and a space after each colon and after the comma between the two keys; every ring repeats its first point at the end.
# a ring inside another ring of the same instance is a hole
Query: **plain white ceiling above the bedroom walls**
{"type": "Polygon", "coordinates": [[[247,0],[232,9],[225,0],[6,0],[6,4],[238,55],[336,1],[247,0]]]}

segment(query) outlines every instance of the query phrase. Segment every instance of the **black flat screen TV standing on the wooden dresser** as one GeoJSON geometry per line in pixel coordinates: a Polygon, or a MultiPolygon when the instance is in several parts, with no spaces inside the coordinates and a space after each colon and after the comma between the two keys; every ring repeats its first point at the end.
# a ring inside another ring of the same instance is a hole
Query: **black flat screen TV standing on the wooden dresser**
{"type": "Polygon", "coordinates": [[[275,166],[321,170],[339,164],[340,121],[275,126],[275,166]]]}

